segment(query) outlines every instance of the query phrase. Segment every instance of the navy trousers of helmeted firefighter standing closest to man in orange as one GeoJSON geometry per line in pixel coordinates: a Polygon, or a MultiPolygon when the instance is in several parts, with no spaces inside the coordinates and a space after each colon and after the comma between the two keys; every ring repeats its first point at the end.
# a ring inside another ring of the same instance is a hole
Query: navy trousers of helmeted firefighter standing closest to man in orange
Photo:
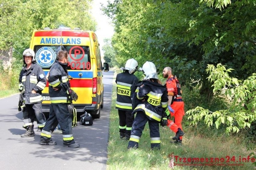
{"type": "Polygon", "coordinates": [[[142,111],[137,112],[133,121],[131,136],[127,148],[139,147],[139,140],[147,122],[151,138],[151,149],[160,149],[159,123],[148,119],[146,114],[142,111]]]}

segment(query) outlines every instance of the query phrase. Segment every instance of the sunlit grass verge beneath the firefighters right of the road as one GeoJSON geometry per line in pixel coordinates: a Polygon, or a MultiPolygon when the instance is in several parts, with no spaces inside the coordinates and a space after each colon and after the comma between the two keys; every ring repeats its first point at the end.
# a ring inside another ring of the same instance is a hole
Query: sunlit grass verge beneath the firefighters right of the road
{"type": "MultiPolygon", "coordinates": [[[[146,124],[143,130],[139,149],[127,149],[128,141],[120,139],[119,136],[119,119],[118,112],[115,109],[116,101],[116,85],[113,83],[112,92],[112,104],[110,113],[110,126],[109,126],[109,143],[108,143],[108,160],[107,169],[115,170],[166,170],[168,167],[169,157],[172,152],[175,156],[181,158],[224,158],[227,160],[227,156],[235,156],[236,161],[239,161],[239,156],[248,157],[251,151],[247,151],[244,146],[242,136],[233,135],[226,136],[223,134],[211,132],[209,129],[209,135],[200,134],[202,128],[197,126],[185,126],[183,130],[185,135],[183,137],[182,146],[177,146],[170,143],[172,136],[175,134],[166,126],[160,126],[161,137],[161,150],[152,151],[150,149],[150,136],[148,124],[146,124]]],[[[184,116],[186,119],[186,116],[184,116]]],[[[203,129],[204,132],[206,129],[203,129]]],[[[254,151],[255,152],[255,151],[254,151]]],[[[183,163],[174,160],[175,163],[183,163]]],[[[190,163],[191,162],[187,162],[190,163]]],[[[199,162],[200,163],[200,162],[199,162]]],[[[197,163],[197,164],[199,164],[197,163]]],[[[254,169],[252,163],[243,163],[243,166],[220,166],[217,162],[213,162],[214,166],[175,166],[174,169],[254,169]]],[[[213,164],[211,163],[211,164],[213,164]]],[[[219,162],[220,164],[223,164],[219,162]]],[[[230,162],[230,164],[233,162],[230,162]]],[[[235,162],[236,163],[236,162],[235,162]]],[[[194,163],[196,164],[196,163],[194,163]]],[[[206,163],[202,163],[206,164],[206,163]]],[[[209,163],[210,164],[210,163],[209,163]]]]}

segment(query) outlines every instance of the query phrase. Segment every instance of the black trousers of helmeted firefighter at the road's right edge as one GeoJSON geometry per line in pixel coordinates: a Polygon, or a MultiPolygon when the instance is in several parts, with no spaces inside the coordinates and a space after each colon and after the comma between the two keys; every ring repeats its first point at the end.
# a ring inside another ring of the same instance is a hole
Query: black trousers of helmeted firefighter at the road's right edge
{"type": "Polygon", "coordinates": [[[134,121],[134,114],[132,111],[119,110],[119,132],[126,135],[131,135],[132,125],[134,121]]]}

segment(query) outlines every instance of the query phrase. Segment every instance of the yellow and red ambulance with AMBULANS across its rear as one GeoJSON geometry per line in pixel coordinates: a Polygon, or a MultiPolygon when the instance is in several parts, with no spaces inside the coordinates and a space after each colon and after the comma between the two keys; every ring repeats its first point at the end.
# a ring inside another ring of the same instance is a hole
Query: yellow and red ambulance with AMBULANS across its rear
{"type": "MultiPolygon", "coordinates": [[[[69,53],[68,74],[71,88],[78,94],[73,101],[77,112],[91,113],[93,118],[100,118],[103,108],[102,71],[109,70],[108,63],[101,62],[99,42],[93,31],[82,31],[79,28],[58,28],[33,31],[30,48],[35,51],[37,64],[47,75],[56,59],[59,50],[69,53]]],[[[49,84],[43,90],[42,109],[49,112],[49,84]]]]}

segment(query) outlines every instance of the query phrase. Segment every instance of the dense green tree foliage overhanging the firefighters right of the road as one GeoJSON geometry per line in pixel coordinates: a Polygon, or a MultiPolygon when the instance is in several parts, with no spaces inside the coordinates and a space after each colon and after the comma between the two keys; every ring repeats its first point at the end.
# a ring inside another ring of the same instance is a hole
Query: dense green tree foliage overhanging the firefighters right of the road
{"type": "Polygon", "coordinates": [[[133,56],[139,64],[148,60],[159,69],[171,66],[182,84],[199,83],[202,94],[213,96],[207,64],[223,63],[241,80],[255,72],[255,3],[116,0],[104,11],[115,24],[112,45],[118,64],[133,56]]]}

